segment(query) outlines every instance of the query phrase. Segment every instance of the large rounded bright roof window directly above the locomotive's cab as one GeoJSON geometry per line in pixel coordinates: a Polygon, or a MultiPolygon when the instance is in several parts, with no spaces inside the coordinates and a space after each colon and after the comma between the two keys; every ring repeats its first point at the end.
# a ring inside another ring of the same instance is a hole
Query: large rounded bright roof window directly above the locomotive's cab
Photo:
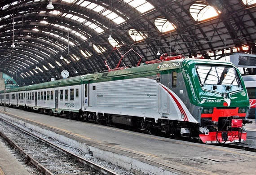
{"type": "Polygon", "coordinates": [[[196,2],[190,6],[190,15],[195,21],[203,21],[208,18],[218,16],[220,11],[216,11],[215,8],[204,2],[196,2]]]}

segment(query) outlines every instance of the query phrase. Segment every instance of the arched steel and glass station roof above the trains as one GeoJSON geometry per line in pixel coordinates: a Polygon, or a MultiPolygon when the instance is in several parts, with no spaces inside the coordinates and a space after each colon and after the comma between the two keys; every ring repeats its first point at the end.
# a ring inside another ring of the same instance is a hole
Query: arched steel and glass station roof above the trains
{"type": "Polygon", "coordinates": [[[136,66],[158,52],[255,53],[255,18],[256,0],[0,0],[0,71],[24,86],[106,71],[122,56],[136,66]]]}

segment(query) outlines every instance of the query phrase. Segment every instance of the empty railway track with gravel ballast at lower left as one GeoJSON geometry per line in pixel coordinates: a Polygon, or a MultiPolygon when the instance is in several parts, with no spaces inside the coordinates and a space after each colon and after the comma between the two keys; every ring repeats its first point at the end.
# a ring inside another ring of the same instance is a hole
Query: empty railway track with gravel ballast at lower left
{"type": "Polygon", "coordinates": [[[118,175],[0,119],[0,135],[45,175],[118,175]]]}

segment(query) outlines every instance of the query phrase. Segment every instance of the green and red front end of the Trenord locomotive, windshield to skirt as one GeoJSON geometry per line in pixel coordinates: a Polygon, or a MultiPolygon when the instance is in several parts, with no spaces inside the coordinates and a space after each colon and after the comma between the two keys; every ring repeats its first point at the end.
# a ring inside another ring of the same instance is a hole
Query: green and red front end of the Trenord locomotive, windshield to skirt
{"type": "Polygon", "coordinates": [[[200,139],[204,143],[246,140],[243,126],[249,112],[248,96],[241,75],[232,65],[194,65],[190,101],[199,106],[200,139]],[[201,114],[200,114],[201,113],[201,114]]]}

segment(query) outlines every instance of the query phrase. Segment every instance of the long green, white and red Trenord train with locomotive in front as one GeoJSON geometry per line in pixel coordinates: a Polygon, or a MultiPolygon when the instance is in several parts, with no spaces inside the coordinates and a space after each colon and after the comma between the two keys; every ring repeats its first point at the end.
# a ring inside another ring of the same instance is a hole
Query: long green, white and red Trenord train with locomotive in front
{"type": "Polygon", "coordinates": [[[175,58],[0,91],[0,104],[205,144],[245,141],[252,121],[237,67],[175,58]]]}

